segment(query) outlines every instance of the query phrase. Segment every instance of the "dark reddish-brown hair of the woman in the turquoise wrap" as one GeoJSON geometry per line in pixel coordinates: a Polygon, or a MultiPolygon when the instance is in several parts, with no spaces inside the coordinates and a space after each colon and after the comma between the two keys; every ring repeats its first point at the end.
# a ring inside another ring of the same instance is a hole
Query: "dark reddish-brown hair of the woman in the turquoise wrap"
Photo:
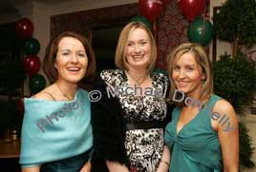
{"type": "Polygon", "coordinates": [[[58,51],[58,44],[60,40],[64,37],[73,37],[79,40],[83,47],[85,48],[86,54],[88,56],[88,66],[84,78],[78,83],[78,86],[86,87],[86,85],[91,84],[96,72],[96,57],[93,48],[91,47],[88,40],[82,34],[75,31],[64,31],[61,34],[53,37],[52,41],[46,48],[45,58],[43,60],[43,70],[48,77],[51,84],[53,84],[57,77],[57,69],[54,67],[56,60],[56,54],[58,51]]]}

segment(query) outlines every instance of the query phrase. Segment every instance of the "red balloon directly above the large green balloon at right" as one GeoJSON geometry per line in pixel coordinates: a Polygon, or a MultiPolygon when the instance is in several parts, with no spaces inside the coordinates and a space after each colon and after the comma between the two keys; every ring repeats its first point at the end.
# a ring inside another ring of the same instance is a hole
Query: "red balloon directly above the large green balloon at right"
{"type": "Polygon", "coordinates": [[[178,6],[189,21],[193,21],[204,9],[205,0],[178,0],[178,6]]]}

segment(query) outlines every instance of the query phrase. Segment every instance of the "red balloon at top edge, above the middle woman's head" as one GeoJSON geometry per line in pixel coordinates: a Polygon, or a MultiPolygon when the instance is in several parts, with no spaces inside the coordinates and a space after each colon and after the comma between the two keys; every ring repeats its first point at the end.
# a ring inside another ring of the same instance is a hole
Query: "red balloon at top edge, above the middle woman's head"
{"type": "Polygon", "coordinates": [[[150,21],[154,21],[163,9],[162,0],[139,0],[139,13],[150,21]]]}

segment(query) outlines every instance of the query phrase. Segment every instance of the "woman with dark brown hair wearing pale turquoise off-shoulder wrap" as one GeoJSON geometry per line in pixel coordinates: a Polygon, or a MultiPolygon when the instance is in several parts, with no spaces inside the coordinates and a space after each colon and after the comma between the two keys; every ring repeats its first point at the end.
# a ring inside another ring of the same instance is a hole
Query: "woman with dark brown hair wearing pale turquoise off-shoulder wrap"
{"type": "Polygon", "coordinates": [[[24,100],[22,171],[89,171],[91,105],[83,88],[96,69],[93,49],[84,36],[65,31],[53,38],[43,65],[52,85],[24,100]]]}

